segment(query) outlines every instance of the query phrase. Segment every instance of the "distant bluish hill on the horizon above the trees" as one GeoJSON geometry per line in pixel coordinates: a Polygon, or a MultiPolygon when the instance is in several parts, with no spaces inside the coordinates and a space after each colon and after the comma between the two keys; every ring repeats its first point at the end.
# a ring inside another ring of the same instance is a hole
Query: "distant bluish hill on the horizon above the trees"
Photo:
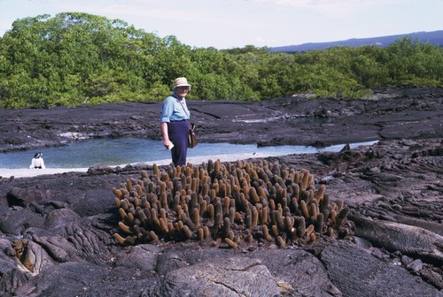
{"type": "Polygon", "coordinates": [[[395,42],[398,39],[411,37],[412,41],[418,42],[430,42],[431,44],[439,45],[443,47],[443,30],[432,31],[432,32],[416,32],[410,34],[399,34],[381,37],[371,37],[371,38],[353,38],[346,41],[339,42],[309,42],[299,45],[287,45],[276,48],[269,48],[270,52],[287,52],[295,53],[300,51],[309,50],[325,50],[332,47],[347,46],[347,47],[361,47],[365,45],[377,45],[379,47],[385,47],[395,42]]]}

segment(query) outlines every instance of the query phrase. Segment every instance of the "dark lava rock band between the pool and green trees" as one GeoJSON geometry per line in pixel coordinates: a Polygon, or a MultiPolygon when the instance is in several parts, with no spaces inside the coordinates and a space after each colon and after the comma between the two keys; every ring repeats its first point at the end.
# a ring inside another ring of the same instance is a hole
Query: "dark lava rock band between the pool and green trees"
{"type": "MultiPolygon", "coordinates": [[[[198,138],[260,145],[329,145],[439,138],[441,88],[390,89],[374,100],[307,99],[188,102],[198,138]],[[320,122],[320,124],[319,124],[320,122]]],[[[0,110],[0,152],[84,137],[160,141],[161,103],[118,103],[51,110],[0,110]]]]}

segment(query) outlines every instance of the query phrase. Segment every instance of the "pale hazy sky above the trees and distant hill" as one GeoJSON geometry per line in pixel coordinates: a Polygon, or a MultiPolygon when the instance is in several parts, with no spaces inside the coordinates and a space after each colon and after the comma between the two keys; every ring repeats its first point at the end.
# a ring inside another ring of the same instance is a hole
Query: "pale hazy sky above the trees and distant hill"
{"type": "Polygon", "coordinates": [[[216,49],[443,30],[443,0],[0,0],[0,35],[16,19],[71,11],[216,49]]]}

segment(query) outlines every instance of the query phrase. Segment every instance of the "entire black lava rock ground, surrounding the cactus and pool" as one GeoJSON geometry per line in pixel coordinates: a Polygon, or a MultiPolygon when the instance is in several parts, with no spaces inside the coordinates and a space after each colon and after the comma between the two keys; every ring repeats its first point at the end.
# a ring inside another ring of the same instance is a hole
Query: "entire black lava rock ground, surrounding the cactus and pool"
{"type": "MultiPolygon", "coordinates": [[[[441,88],[384,90],[369,101],[189,102],[200,141],[379,140],[265,159],[307,169],[331,201],[349,206],[341,239],[284,248],[210,240],[121,247],[113,187],[151,166],[0,179],[0,296],[442,296],[442,103],[441,88]]],[[[0,110],[0,151],[83,137],[160,139],[159,109],[0,110]]]]}

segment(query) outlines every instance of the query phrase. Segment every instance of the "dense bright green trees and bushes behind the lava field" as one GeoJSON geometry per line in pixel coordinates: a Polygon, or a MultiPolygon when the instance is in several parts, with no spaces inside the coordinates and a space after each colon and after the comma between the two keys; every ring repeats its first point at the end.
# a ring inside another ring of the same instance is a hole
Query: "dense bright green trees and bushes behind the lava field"
{"type": "Polygon", "coordinates": [[[383,86],[442,87],[443,50],[410,38],[297,54],[198,49],[74,12],[18,19],[0,38],[0,108],[161,101],[179,76],[192,84],[190,99],[362,98],[383,86]]]}

